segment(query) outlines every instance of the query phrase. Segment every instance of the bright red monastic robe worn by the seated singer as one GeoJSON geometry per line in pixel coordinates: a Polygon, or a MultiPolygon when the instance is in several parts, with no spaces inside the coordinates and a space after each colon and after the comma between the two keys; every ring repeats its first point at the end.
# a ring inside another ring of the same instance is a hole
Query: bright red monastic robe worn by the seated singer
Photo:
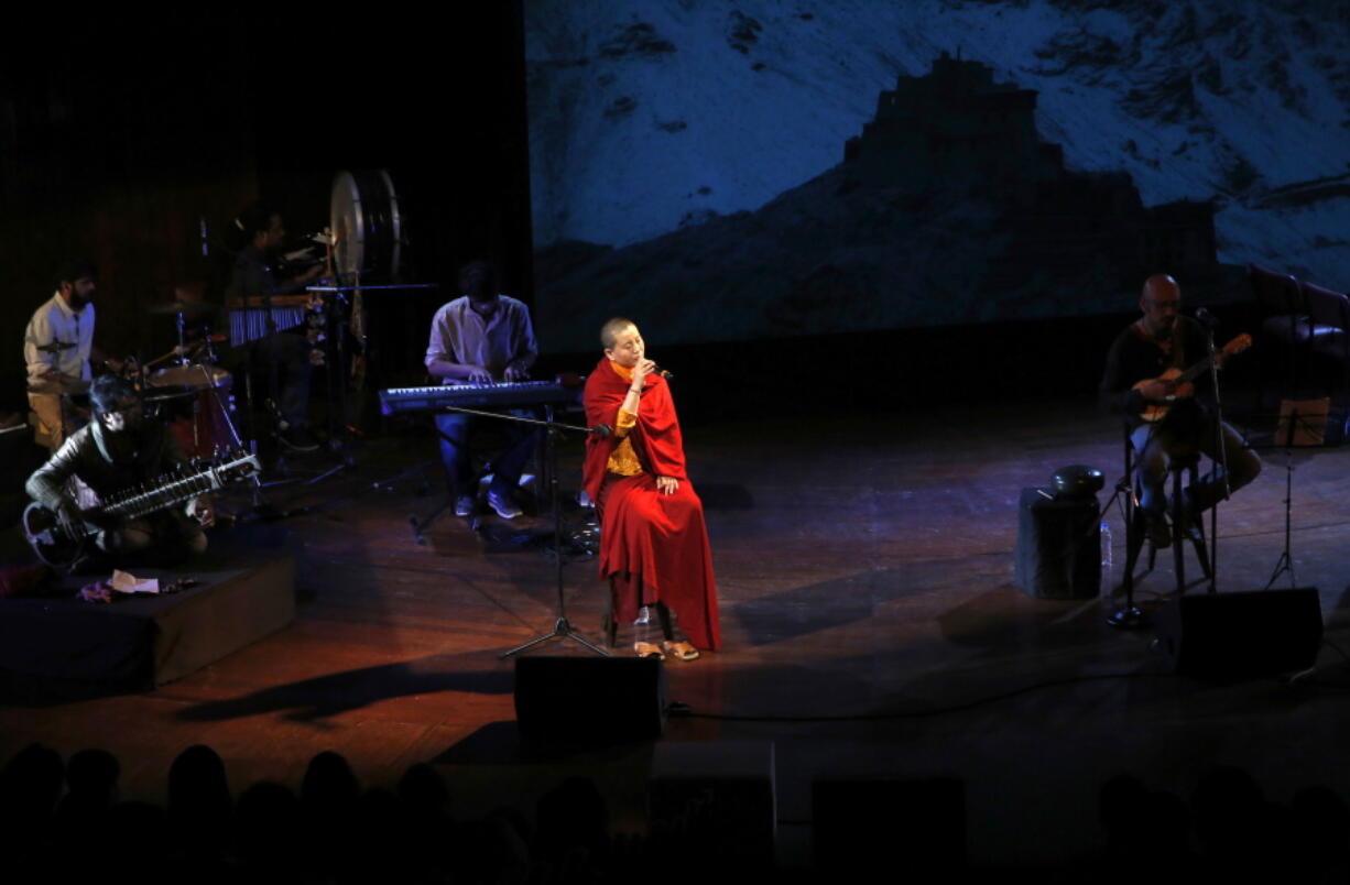
{"type": "MultiPolygon", "coordinates": [[[[586,379],[586,424],[617,426],[629,382],[601,358],[586,379]]],[[[641,606],[663,602],[679,615],[690,642],[717,649],[722,630],[717,617],[713,552],[707,544],[703,503],[684,472],[684,444],[675,401],[664,378],[648,375],[637,424],[628,433],[643,465],[637,476],[605,469],[618,445],[614,436],[586,440],[583,480],[601,515],[599,575],[610,579],[614,618],[632,622],[641,606]],[[663,495],[657,476],[674,476],[679,488],[663,495]]]]}

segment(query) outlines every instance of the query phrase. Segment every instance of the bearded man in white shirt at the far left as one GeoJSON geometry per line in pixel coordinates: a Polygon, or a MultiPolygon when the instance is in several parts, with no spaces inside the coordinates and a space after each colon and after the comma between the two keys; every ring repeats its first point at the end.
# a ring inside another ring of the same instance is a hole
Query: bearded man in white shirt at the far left
{"type": "Polygon", "coordinates": [[[23,359],[28,364],[28,406],[38,430],[55,451],[82,424],[70,397],[89,389],[93,364],[105,360],[93,345],[93,295],[97,270],[92,262],[73,260],[61,268],[57,291],[28,320],[23,359]]]}

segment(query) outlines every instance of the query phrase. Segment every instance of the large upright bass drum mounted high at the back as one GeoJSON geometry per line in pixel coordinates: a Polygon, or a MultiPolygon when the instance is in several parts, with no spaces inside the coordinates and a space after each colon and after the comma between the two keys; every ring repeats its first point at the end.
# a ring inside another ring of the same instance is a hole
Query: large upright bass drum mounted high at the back
{"type": "Polygon", "coordinates": [[[386,170],[338,173],[329,224],[333,263],[344,281],[387,282],[398,275],[402,217],[386,170]]]}

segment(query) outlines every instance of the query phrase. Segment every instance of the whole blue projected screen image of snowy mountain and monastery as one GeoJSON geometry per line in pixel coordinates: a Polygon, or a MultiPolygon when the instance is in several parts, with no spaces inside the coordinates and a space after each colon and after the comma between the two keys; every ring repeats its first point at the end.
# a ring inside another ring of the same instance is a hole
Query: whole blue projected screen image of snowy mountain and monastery
{"type": "Polygon", "coordinates": [[[1210,299],[1246,262],[1345,282],[1346,26],[1297,4],[549,5],[551,349],[616,313],[737,340],[1123,312],[1161,270],[1210,299]]]}

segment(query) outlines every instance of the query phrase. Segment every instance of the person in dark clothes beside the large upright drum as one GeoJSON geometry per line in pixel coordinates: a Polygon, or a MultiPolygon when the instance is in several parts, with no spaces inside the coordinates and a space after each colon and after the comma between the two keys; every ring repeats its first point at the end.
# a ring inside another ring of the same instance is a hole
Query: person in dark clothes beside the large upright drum
{"type": "MultiPolygon", "coordinates": [[[[255,202],[239,213],[235,225],[246,237],[235,258],[227,299],[244,299],[248,306],[270,306],[277,295],[302,294],[305,285],[323,274],[316,264],[304,274],[277,279],[271,262],[286,240],[281,215],[255,202]]],[[[238,344],[238,343],[235,343],[238,344]]],[[[251,343],[254,378],[267,383],[277,411],[277,440],[294,452],[313,452],[319,444],[305,428],[309,420],[310,345],[296,331],[279,331],[251,343]]]]}

